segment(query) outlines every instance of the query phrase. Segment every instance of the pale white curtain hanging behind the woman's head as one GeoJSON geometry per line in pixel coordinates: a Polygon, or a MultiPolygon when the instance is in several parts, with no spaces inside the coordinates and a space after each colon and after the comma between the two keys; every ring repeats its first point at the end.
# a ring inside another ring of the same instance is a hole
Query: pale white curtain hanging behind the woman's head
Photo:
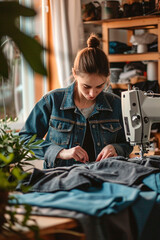
{"type": "Polygon", "coordinates": [[[80,0],[50,0],[54,52],[61,87],[71,82],[76,53],[84,43],[80,0]]]}

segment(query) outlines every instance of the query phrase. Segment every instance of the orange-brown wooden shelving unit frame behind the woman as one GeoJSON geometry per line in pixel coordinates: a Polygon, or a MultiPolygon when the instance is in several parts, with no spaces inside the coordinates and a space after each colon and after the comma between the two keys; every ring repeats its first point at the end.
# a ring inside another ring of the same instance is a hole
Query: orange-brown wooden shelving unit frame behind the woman
{"type": "MultiPolygon", "coordinates": [[[[140,16],[130,18],[108,19],[100,21],[89,21],[84,24],[99,24],[102,26],[103,50],[107,54],[109,62],[127,62],[127,61],[147,61],[154,60],[158,62],[158,83],[160,85],[160,16],[140,16]],[[136,54],[109,54],[109,30],[125,29],[128,36],[133,34],[136,29],[156,29],[158,34],[158,52],[136,53],[136,54]]],[[[114,88],[125,89],[124,84],[113,84],[114,88]]]]}

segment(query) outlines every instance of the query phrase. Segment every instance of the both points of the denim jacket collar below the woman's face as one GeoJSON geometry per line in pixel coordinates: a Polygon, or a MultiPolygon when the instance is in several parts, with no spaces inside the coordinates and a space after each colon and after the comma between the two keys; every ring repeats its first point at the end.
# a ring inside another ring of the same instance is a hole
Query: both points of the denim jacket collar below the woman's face
{"type": "MultiPolygon", "coordinates": [[[[61,110],[67,110],[67,109],[75,109],[75,103],[74,103],[74,87],[75,82],[73,82],[69,87],[65,89],[64,97],[62,100],[62,104],[60,109],[61,110]]],[[[106,110],[106,111],[113,111],[111,105],[109,104],[107,94],[102,91],[97,99],[96,99],[96,106],[97,111],[106,110]]]]}

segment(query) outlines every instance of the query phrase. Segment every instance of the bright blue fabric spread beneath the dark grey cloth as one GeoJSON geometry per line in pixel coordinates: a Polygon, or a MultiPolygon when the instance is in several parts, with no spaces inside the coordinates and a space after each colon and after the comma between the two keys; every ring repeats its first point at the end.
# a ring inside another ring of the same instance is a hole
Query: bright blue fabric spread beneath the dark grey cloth
{"type": "Polygon", "coordinates": [[[118,213],[133,204],[140,190],[114,183],[103,183],[102,188],[88,191],[73,189],[56,193],[15,194],[20,204],[75,210],[93,216],[118,213]]]}

